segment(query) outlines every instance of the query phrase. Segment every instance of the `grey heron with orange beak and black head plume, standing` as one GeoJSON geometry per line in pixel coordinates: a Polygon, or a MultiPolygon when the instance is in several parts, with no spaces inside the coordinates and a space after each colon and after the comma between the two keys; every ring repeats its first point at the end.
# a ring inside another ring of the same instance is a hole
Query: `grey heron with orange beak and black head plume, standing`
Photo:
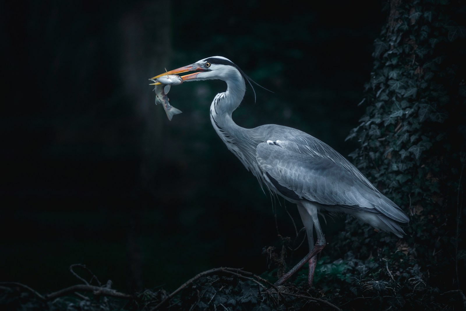
{"type": "Polygon", "coordinates": [[[210,106],[213,128],[260,184],[298,207],[308,236],[309,253],[276,285],[285,282],[306,262],[309,264],[308,283],[312,285],[316,254],[326,244],[317,216],[320,213],[350,214],[377,229],[402,237],[404,231],[400,225],[408,223],[408,216],[329,145],[291,127],[266,124],[247,129],[233,121],[232,113],[243,100],[246,81],[252,87],[252,80],[229,59],[207,57],[151,79],[188,71],[196,72],[181,76],[184,81],[219,79],[226,82],[226,91],[217,94],[210,106]]]}

